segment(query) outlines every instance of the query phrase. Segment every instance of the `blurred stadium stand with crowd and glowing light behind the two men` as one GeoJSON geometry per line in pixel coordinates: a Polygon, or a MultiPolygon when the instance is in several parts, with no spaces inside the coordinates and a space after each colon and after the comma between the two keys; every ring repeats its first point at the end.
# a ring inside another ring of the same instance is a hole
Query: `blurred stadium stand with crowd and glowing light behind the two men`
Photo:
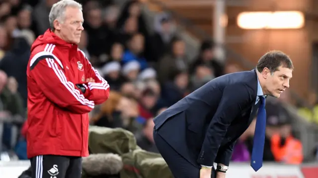
{"type": "MultiPolygon", "coordinates": [[[[57,1],[0,0],[0,168],[27,159],[23,125],[30,45],[49,28],[48,14],[57,1]]],[[[295,70],[291,88],[267,100],[264,161],[310,163],[318,171],[313,164],[318,161],[318,0],[77,1],[85,19],[79,49],[111,86],[108,101],[90,113],[91,125],[125,128],[141,148],[158,152],[152,119],[160,112],[211,79],[251,70],[263,54],[281,50],[295,70]]],[[[239,138],[234,165],[249,166],[254,124],[239,138]]]]}

